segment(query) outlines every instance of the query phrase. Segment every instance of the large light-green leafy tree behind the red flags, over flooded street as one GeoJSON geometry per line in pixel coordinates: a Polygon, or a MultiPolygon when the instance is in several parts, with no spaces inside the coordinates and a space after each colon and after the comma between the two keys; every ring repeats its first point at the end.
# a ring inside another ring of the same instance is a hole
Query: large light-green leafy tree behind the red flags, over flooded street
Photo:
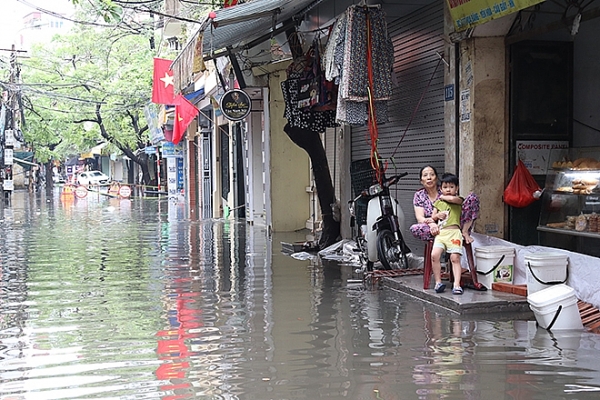
{"type": "Polygon", "coordinates": [[[50,46],[34,47],[22,80],[25,138],[38,159],[81,152],[104,139],[139,164],[149,183],[147,155],[137,152],[148,145],[141,123],[152,87],[147,37],[77,26],[50,46]]]}

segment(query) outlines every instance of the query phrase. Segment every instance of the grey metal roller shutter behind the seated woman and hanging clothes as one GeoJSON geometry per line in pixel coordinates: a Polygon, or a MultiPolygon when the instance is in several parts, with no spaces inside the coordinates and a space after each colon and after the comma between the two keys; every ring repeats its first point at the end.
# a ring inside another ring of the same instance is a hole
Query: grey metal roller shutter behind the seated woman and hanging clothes
{"type": "MultiPolygon", "coordinates": [[[[431,164],[438,173],[444,170],[444,64],[440,63],[444,51],[443,20],[443,4],[435,2],[388,24],[398,86],[388,103],[390,121],[378,127],[377,148],[382,157],[390,159],[390,174],[394,170],[409,173],[393,194],[406,217],[405,240],[416,254],[421,254],[424,246],[413,239],[408,227],[415,223],[412,199],[421,187],[419,169],[431,164]]],[[[352,161],[369,157],[368,137],[366,126],[352,127],[352,161]]]]}

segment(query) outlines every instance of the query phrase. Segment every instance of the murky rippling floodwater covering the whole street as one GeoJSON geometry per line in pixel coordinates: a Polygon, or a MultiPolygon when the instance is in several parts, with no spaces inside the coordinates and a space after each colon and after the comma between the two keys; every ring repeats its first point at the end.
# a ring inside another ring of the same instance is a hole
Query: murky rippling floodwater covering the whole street
{"type": "Polygon", "coordinates": [[[157,199],[0,208],[0,399],[595,399],[600,335],[461,317],[157,199]]]}

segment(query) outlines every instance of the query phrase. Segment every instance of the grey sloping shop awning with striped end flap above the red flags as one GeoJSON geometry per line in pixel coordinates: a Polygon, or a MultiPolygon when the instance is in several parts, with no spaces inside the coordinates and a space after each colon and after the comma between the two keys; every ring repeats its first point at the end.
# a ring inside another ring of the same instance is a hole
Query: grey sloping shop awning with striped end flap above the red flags
{"type": "Polygon", "coordinates": [[[237,53],[251,48],[272,34],[292,27],[297,18],[323,0],[255,0],[215,11],[213,19],[206,18],[175,58],[175,86],[182,89],[192,76],[192,64],[197,43],[202,40],[204,59],[237,53]]]}

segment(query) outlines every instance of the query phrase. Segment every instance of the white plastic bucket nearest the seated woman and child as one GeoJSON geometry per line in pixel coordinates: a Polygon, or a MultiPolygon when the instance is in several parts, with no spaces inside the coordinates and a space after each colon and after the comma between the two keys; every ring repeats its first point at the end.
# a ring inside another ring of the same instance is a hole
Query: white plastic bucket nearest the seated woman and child
{"type": "Polygon", "coordinates": [[[477,280],[488,289],[493,282],[513,282],[515,249],[506,246],[475,248],[477,280]]]}

